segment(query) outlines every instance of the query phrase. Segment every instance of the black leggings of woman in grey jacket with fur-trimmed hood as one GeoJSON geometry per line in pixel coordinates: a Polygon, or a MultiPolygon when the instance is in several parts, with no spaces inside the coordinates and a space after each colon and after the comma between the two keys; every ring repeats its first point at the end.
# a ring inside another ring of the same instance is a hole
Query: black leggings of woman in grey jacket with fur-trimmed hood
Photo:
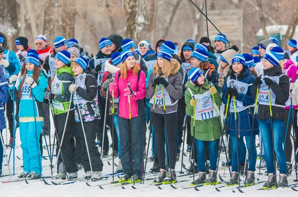
{"type": "MultiPolygon", "coordinates": [[[[166,122],[167,122],[167,142],[169,147],[169,155],[170,155],[170,168],[175,169],[176,164],[176,155],[177,155],[177,148],[176,148],[176,126],[174,124],[177,122],[177,112],[168,113],[166,114],[166,122]]],[[[156,137],[157,143],[157,155],[159,161],[160,169],[166,169],[166,162],[165,162],[165,120],[164,114],[154,113],[152,124],[154,129],[154,134],[156,137]]]]}

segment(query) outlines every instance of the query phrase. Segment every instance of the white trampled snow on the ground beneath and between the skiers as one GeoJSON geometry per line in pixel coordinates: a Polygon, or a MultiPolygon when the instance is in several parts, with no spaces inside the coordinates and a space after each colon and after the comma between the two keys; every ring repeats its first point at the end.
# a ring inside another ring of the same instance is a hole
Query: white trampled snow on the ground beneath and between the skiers
{"type": "MultiPolygon", "coordinates": [[[[54,127],[52,126],[52,129],[54,127]]],[[[9,132],[9,131],[8,131],[9,132]]],[[[52,133],[54,133],[54,130],[52,130],[52,133]]],[[[8,134],[8,133],[7,133],[8,134]]],[[[19,141],[19,131],[17,130],[16,134],[16,148],[15,148],[15,156],[18,156],[19,158],[22,158],[22,150],[20,148],[20,141],[19,141]]],[[[9,135],[9,134],[8,134],[9,135]]],[[[5,140],[5,130],[3,131],[4,136],[4,143],[5,140]]],[[[108,133],[108,136],[110,138],[110,133],[108,133]]],[[[54,135],[52,137],[52,142],[54,135]]],[[[147,133],[148,138],[148,133],[147,133]]],[[[48,136],[47,136],[48,140],[48,136]]],[[[111,140],[110,140],[111,142],[111,140]]],[[[43,143],[45,145],[45,143],[43,143]]],[[[186,149],[186,147],[185,147],[186,149]]],[[[6,149],[6,154],[9,155],[10,148],[6,149]]],[[[150,151],[150,150],[149,150],[150,151]]],[[[110,148],[110,153],[112,152],[112,149],[110,148]]],[[[185,165],[189,166],[189,153],[185,151],[187,154],[186,157],[183,158],[183,161],[185,165]]],[[[48,155],[47,150],[44,149],[44,155],[48,155]]],[[[151,155],[149,153],[149,155],[151,155]]],[[[12,158],[12,157],[11,157],[12,158]]],[[[107,160],[109,160],[111,157],[103,158],[103,175],[112,173],[112,166],[107,164],[107,160]]],[[[221,155],[221,159],[224,160],[224,154],[221,155]]],[[[55,164],[56,157],[54,158],[53,163],[55,164]]],[[[109,162],[112,164],[112,160],[110,159],[109,162]]],[[[118,158],[115,159],[115,162],[118,162],[118,158]]],[[[257,161],[258,163],[258,161],[257,161]]],[[[8,174],[8,168],[7,166],[4,166],[6,164],[5,159],[3,160],[3,174],[8,174]]],[[[50,161],[43,159],[42,165],[43,165],[43,176],[51,176],[51,169],[49,167],[50,161]]],[[[152,162],[148,162],[147,165],[147,171],[152,167],[152,162]]],[[[10,170],[12,173],[12,160],[10,161],[10,170]]],[[[15,174],[16,176],[19,175],[19,173],[22,172],[22,160],[15,158],[15,174]]],[[[181,156],[180,160],[176,163],[176,171],[177,175],[179,174],[181,168],[181,156]]],[[[258,169],[257,169],[258,171],[258,169]]],[[[264,170],[262,170],[264,172],[264,170]]],[[[219,170],[219,173],[222,175],[224,180],[229,179],[229,175],[225,175],[224,177],[224,170],[223,167],[219,170]]],[[[228,169],[226,168],[225,173],[228,173],[228,169]]],[[[257,173],[257,172],[256,172],[257,173]]],[[[56,173],[55,173],[56,174],[56,173]]],[[[78,172],[78,177],[82,177],[84,174],[83,170],[80,170],[78,172]]],[[[146,177],[149,177],[149,175],[146,175],[146,177]]],[[[150,177],[151,178],[151,177],[150,177]]],[[[264,175],[256,175],[256,178],[259,178],[260,181],[267,180],[267,176],[264,175]]],[[[293,171],[292,175],[288,177],[288,180],[293,180],[295,178],[295,172],[293,171]]],[[[162,185],[160,186],[162,190],[157,189],[156,186],[151,186],[144,189],[137,189],[133,190],[131,188],[131,185],[125,186],[125,190],[123,190],[121,187],[111,187],[111,186],[103,186],[105,189],[102,190],[98,187],[88,187],[85,185],[84,182],[76,182],[74,184],[69,185],[60,185],[60,186],[54,186],[54,185],[45,185],[40,180],[29,180],[29,184],[26,184],[24,181],[22,182],[14,182],[14,183],[1,183],[2,181],[8,180],[9,176],[7,177],[1,177],[0,178],[0,197],[91,197],[91,196],[102,196],[102,197],[119,197],[119,195],[126,197],[126,196],[142,196],[142,197],[152,197],[152,196],[158,196],[158,197],[181,197],[183,196],[209,196],[209,197],[238,197],[239,195],[243,197],[255,197],[258,195],[268,195],[270,197],[279,197],[279,196],[298,196],[298,192],[295,192],[291,190],[290,188],[284,188],[284,189],[278,189],[278,190],[271,190],[271,191],[257,191],[256,189],[262,188],[263,184],[258,184],[255,186],[251,186],[248,188],[242,189],[245,194],[240,194],[236,187],[227,187],[227,188],[220,188],[222,192],[217,192],[215,190],[214,186],[204,186],[201,188],[198,188],[200,191],[195,191],[194,189],[172,189],[170,185],[162,185]],[[232,190],[235,191],[235,193],[232,192],[232,190]]],[[[184,177],[178,177],[177,180],[187,180],[188,182],[180,183],[180,186],[186,186],[189,185],[192,181],[192,178],[189,176],[184,177]],[[183,184],[183,185],[182,185],[183,184]]],[[[241,178],[243,181],[245,178],[241,178]]],[[[117,178],[115,179],[117,180],[117,178]]],[[[218,179],[219,180],[219,179],[218,179]]],[[[112,178],[109,179],[109,181],[112,181],[112,178]]],[[[103,183],[106,183],[107,181],[102,180],[103,183]]],[[[289,181],[289,184],[291,184],[293,181],[289,181]]],[[[100,183],[100,182],[97,182],[100,183]]],[[[177,187],[179,184],[177,185],[177,187]]],[[[140,183],[136,183],[136,187],[140,188],[143,187],[143,185],[140,185],[140,183]]]]}

